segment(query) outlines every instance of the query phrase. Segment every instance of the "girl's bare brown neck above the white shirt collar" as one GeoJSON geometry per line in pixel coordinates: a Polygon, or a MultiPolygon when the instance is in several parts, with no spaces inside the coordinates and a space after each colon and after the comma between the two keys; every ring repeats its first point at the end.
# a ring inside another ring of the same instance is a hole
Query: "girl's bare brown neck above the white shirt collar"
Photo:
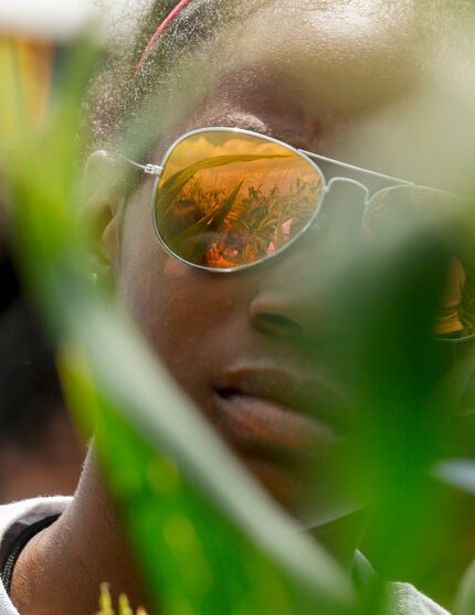
{"type": "Polygon", "coordinates": [[[99,584],[125,592],[131,604],[144,591],[118,515],[89,452],[74,499],[62,517],[22,551],[11,597],[22,615],[97,612],[99,584]]]}

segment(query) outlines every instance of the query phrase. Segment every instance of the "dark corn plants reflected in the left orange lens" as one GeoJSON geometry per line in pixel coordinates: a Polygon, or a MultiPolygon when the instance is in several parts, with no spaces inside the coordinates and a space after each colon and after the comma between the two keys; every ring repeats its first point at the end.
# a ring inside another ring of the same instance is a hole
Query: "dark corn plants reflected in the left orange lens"
{"type": "Polygon", "coordinates": [[[207,159],[165,181],[156,203],[157,222],[171,250],[208,266],[236,266],[279,250],[302,230],[315,211],[318,179],[308,182],[297,177],[292,182],[282,176],[282,185],[274,183],[264,191],[266,178],[260,177],[257,183],[252,172],[236,176],[235,181],[228,178],[228,189],[208,188],[200,176],[209,168],[256,158],[263,157],[207,159]],[[246,195],[241,194],[243,185],[246,195]]]}

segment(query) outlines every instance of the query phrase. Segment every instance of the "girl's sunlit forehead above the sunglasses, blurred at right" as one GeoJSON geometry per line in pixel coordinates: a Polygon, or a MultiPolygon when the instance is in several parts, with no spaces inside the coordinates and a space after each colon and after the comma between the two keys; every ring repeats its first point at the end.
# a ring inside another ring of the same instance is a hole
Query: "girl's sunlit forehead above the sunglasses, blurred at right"
{"type": "MultiPolygon", "coordinates": [[[[451,114],[460,118],[451,108],[453,100],[446,105],[440,89],[435,130],[420,121],[421,108],[424,119],[431,115],[426,110],[434,100],[428,84],[442,84],[441,50],[447,49],[444,41],[450,40],[451,23],[455,23],[453,10],[444,8],[442,0],[249,0],[242,7],[243,20],[224,26],[218,47],[211,47],[208,65],[221,72],[219,86],[208,93],[189,127],[230,125],[239,112],[241,116],[255,114],[258,120],[265,116],[271,125],[277,118],[281,128],[288,120],[287,132],[294,135],[297,128],[313,126],[320,137],[328,129],[342,132],[348,140],[348,127],[358,132],[369,124],[370,142],[377,141],[381,151],[370,157],[362,146],[362,151],[341,155],[368,167],[378,165],[379,158],[393,157],[380,170],[412,179],[413,161],[401,159],[400,146],[414,140],[414,123],[422,141],[428,132],[439,134],[442,124],[448,127],[451,114]],[[249,12],[244,10],[247,4],[252,7],[249,12]],[[421,89],[426,98],[416,107],[404,107],[421,89]],[[392,117],[384,116],[398,105],[392,117]]],[[[270,131],[267,125],[262,131],[270,131]]],[[[310,147],[298,136],[293,141],[310,147]]],[[[319,147],[318,139],[314,142],[319,147]]],[[[428,140],[429,151],[432,147],[428,140]]],[[[339,149],[339,144],[330,146],[328,153],[340,153],[339,149]]],[[[432,182],[429,176],[418,180],[432,182]]]]}

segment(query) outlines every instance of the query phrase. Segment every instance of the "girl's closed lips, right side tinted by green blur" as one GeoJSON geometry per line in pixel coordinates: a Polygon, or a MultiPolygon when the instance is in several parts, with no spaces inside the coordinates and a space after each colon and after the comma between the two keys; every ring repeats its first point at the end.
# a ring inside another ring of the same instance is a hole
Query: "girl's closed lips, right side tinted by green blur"
{"type": "Polygon", "coordinates": [[[214,418],[239,448],[292,453],[340,439],[341,395],[299,372],[254,365],[226,372],[214,386],[214,418]]]}

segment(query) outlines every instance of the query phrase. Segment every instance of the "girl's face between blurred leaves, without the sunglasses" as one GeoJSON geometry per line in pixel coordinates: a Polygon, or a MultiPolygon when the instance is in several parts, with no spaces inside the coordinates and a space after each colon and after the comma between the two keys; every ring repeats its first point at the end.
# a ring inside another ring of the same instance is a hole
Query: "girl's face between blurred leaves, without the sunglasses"
{"type": "MultiPolygon", "coordinates": [[[[408,92],[421,71],[407,7],[266,3],[229,36],[226,77],[158,144],[154,162],[182,132],[207,126],[345,156],[358,126],[408,92]]],[[[310,231],[265,264],[219,275],[163,251],[150,220],[151,190],[146,179],[120,222],[119,291],[249,468],[285,506],[299,506],[309,457],[341,453],[348,391],[338,370],[345,343],[331,264],[359,226],[361,197],[336,191],[326,233],[310,231]]]]}

